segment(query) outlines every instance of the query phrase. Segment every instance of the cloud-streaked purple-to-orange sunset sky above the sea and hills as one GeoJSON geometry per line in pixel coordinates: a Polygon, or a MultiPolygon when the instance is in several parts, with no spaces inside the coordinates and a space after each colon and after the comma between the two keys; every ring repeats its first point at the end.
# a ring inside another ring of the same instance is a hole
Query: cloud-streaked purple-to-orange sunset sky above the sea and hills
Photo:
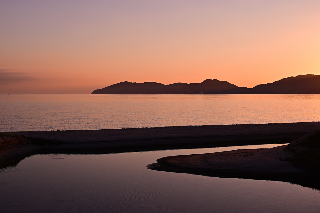
{"type": "Polygon", "coordinates": [[[0,94],[320,75],[319,11],[319,0],[0,0],[0,94]]]}

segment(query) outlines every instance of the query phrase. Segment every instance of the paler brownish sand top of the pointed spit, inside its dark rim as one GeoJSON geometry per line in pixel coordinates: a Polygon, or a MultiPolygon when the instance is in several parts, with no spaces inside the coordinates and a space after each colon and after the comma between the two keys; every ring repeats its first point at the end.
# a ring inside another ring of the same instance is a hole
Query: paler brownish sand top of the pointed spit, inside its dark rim
{"type": "Polygon", "coordinates": [[[281,159],[292,156],[284,146],[270,149],[247,149],[197,155],[159,158],[157,163],[172,167],[206,171],[257,172],[261,174],[303,173],[304,171],[281,159]]]}

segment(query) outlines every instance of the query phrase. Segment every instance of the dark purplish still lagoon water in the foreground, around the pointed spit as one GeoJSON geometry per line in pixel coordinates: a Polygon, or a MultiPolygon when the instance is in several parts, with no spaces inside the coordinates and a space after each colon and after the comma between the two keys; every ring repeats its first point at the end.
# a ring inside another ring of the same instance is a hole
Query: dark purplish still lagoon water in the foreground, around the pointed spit
{"type": "Polygon", "coordinates": [[[287,182],[148,170],[157,158],[282,144],[105,155],[35,155],[0,170],[0,212],[320,212],[287,182]]]}

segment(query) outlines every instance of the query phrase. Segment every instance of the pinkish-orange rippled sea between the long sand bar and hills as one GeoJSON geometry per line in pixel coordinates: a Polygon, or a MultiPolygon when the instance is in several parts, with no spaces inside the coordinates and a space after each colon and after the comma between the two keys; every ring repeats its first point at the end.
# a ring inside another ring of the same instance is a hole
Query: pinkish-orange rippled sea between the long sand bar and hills
{"type": "Polygon", "coordinates": [[[0,131],[320,121],[320,95],[0,95],[0,131]]]}

